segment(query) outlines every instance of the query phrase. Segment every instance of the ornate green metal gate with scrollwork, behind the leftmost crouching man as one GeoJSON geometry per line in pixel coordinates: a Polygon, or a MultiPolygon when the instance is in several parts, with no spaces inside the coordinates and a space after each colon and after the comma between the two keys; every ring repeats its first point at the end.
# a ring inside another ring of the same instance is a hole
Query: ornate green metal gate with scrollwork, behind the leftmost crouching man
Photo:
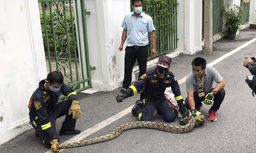
{"type": "Polygon", "coordinates": [[[72,4],[73,0],[38,0],[38,2],[42,4],[40,17],[44,46],[48,55],[46,60],[46,63],[49,62],[48,72],[61,71],[64,83],[77,93],[89,89],[91,87],[90,71],[95,70],[95,67],[91,67],[89,62],[85,16],[90,12],[86,12],[84,0],[74,0],[75,4],[72,4]],[[80,1],[81,12],[78,11],[78,1],[80,1]],[[76,17],[79,13],[82,15],[82,28],[79,26],[79,18],[76,17]],[[84,52],[82,45],[84,45],[84,52]]]}

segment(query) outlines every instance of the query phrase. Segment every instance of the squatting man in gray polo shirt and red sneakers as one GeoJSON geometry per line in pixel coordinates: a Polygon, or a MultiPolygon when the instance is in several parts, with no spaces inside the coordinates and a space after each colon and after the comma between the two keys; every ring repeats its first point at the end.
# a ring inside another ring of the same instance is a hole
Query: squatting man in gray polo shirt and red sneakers
{"type": "Polygon", "coordinates": [[[206,60],[197,57],[192,61],[192,72],[186,79],[188,97],[185,99],[185,107],[191,110],[192,115],[197,119],[200,108],[206,105],[213,105],[209,110],[209,121],[216,121],[217,110],[225,97],[225,81],[219,72],[211,66],[206,67],[206,60]],[[213,81],[217,83],[214,87],[213,81]]]}

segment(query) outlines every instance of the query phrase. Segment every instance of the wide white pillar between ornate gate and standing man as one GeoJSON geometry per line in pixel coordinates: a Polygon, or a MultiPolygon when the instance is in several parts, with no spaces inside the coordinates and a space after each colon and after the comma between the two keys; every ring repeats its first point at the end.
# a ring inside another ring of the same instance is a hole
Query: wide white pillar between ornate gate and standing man
{"type": "MultiPolygon", "coordinates": [[[[113,91],[122,86],[124,79],[125,47],[121,52],[118,47],[123,31],[121,24],[124,16],[131,12],[130,1],[85,1],[85,8],[90,11],[90,15],[86,15],[90,65],[96,67],[91,71],[92,89],[113,91]]],[[[82,20],[80,27],[81,24],[82,20]]]]}

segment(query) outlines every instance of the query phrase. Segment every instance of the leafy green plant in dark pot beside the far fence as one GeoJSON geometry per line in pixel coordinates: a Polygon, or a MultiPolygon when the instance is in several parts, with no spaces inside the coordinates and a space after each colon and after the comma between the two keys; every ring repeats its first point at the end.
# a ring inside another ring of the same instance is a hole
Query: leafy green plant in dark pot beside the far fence
{"type": "Polygon", "coordinates": [[[242,14],[246,13],[246,9],[239,6],[234,5],[233,8],[229,8],[230,4],[226,4],[223,6],[221,13],[225,17],[227,28],[227,39],[236,39],[236,32],[240,29],[241,17],[242,14]]]}

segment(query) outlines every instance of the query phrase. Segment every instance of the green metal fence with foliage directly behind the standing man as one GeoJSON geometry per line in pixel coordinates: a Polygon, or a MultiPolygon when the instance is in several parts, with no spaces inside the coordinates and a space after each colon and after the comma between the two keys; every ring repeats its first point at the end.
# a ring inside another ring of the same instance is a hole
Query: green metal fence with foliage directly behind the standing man
{"type": "MultiPolygon", "coordinates": [[[[177,0],[143,1],[143,12],[152,17],[155,26],[157,41],[155,56],[164,55],[177,48],[177,4],[177,0]]],[[[131,11],[133,11],[132,7],[131,11]]],[[[150,40],[149,43],[148,60],[152,58],[150,40]]]]}

